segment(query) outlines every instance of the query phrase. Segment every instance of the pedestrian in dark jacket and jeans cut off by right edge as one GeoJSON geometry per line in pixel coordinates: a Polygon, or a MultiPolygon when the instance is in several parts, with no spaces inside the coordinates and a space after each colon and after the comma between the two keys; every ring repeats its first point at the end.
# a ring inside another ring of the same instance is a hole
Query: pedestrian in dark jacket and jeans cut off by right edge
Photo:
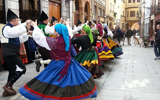
{"type": "Polygon", "coordinates": [[[154,53],[156,55],[156,58],[154,58],[154,60],[160,58],[160,25],[158,24],[156,28],[157,28],[157,33],[155,35],[155,46],[154,46],[154,53]]]}

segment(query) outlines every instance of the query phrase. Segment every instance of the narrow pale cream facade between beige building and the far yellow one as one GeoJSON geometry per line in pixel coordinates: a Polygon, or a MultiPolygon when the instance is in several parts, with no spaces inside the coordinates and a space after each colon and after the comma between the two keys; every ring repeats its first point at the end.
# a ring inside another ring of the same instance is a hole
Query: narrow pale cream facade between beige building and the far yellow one
{"type": "Polygon", "coordinates": [[[116,0],[106,0],[106,23],[109,28],[114,28],[116,11],[115,8],[116,0]]]}

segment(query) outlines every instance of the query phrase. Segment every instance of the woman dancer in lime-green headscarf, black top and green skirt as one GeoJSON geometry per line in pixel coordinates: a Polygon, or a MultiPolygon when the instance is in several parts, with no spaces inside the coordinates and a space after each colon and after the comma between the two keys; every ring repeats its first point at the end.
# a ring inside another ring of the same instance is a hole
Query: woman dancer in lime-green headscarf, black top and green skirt
{"type": "Polygon", "coordinates": [[[95,49],[92,49],[94,38],[90,27],[84,25],[81,34],[82,36],[72,38],[72,44],[78,44],[82,47],[82,51],[74,58],[84,66],[94,78],[99,78],[104,73],[99,66],[97,53],[95,49]]]}

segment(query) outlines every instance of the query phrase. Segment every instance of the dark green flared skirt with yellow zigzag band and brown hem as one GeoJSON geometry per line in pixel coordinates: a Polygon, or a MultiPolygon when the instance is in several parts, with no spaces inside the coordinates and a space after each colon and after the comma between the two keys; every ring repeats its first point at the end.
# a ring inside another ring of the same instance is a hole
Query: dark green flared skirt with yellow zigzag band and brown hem
{"type": "Polygon", "coordinates": [[[95,49],[81,51],[74,57],[83,67],[85,67],[94,78],[101,77],[104,73],[99,66],[98,56],[95,49]]]}

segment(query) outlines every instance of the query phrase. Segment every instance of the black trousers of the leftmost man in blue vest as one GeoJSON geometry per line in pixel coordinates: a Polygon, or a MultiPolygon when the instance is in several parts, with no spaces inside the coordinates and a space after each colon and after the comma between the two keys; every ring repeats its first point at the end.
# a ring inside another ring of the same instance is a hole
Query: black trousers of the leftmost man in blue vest
{"type": "Polygon", "coordinates": [[[3,59],[7,63],[9,71],[7,83],[13,85],[22,76],[22,74],[25,74],[26,67],[24,66],[18,55],[8,56],[3,59]],[[16,71],[16,66],[18,66],[23,71],[16,71]]]}

